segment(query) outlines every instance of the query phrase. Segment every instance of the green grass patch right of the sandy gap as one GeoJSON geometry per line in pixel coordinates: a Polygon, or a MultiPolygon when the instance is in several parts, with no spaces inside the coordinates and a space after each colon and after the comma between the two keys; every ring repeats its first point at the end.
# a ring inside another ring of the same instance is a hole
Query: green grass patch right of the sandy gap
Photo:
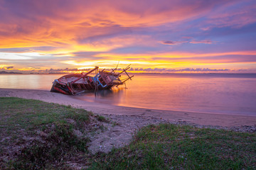
{"type": "Polygon", "coordinates": [[[90,169],[255,169],[256,135],[149,125],[127,147],[92,160],[90,169]]]}

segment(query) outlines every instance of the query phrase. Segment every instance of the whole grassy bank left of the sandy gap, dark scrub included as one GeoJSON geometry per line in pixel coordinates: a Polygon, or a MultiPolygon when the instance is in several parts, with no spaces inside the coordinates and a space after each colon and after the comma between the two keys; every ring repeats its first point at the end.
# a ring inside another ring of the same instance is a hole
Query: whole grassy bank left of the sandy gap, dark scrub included
{"type": "Polygon", "coordinates": [[[13,160],[0,159],[0,169],[58,169],[73,156],[87,154],[89,139],[84,127],[90,123],[90,115],[91,112],[70,106],[0,98],[0,139],[6,138],[0,142],[0,156],[9,152],[9,147],[22,147],[13,160]],[[74,130],[84,133],[78,137],[74,130]],[[35,140],[27,142],[23,137],[35,140]]]}

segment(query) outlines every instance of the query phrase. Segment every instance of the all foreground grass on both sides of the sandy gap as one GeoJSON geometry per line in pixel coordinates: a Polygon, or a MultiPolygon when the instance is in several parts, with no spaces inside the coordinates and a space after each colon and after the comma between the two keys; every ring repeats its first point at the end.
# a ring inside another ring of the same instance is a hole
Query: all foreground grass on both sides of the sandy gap
{"type": "Polygon", "coordinates": [[[90,115],[71,106],[0,98],[0,169],[70,169],[66,162],[89,169],[256,169],[255,133],[187,125],[149,125],[126,147],[92,155],[90,115]],[[1,159],[9,152],[9,162],[1,159]]]}

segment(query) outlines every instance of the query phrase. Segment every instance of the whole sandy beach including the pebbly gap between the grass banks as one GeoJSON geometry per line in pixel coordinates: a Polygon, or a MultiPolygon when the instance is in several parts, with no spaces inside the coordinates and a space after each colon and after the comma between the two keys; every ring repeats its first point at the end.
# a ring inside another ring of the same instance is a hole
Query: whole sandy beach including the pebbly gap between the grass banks
{"type": "MultiPolygon", "coordinates": [[[[50,103],[70,105],[75,108],[84,108],[93,113],[105,115],[117,125],[110,123],[96,123],[94,126],[105,127],[91,136],[89,150],[92,153],[110,152],[113,147],[123,147],[132,140],[134,132],[145,125],[158,123],[174,123],[196,125],[199,128],[226,128],[241,131],[256,130],[256,116],[223,115],[210,113],[191,113],[181,111],[161,111],[146,108],[129,108],[111,106],[103,103],[80,101],[73,96],[51,93],[50,91],[25,89],[0,89],[0,97],[30,98],[50,103]],[[242,127],[241,127],[242,126],[242,127]]],[[[1,100],[0,100],[1,103],[1,100]]]]}

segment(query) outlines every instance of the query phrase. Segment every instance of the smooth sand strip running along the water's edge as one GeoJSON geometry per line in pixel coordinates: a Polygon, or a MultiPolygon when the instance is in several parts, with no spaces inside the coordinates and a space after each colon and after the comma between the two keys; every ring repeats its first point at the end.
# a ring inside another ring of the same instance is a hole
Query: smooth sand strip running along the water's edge
{"type": "MultiPolygon", "coordinates": [[[[132,116],[149,119],[163,119],[171,122],[186,122],[188,124],[220,126],[232,128],[238,126],[255,126],[256,116],[226,115],[223,113],[194,113],[185,111],[166,111],[148,108],[131,108],[126,106],[112,106],[105,103],[81,101],[73,96],[52,93],[45,90],[30,89],[0,89],[0,97],[18,97],[58,103],[75,108],[83,108],[99,115],[132,116]]],[[[113,117],[112,116],[112,117],[113,117]]]]}

